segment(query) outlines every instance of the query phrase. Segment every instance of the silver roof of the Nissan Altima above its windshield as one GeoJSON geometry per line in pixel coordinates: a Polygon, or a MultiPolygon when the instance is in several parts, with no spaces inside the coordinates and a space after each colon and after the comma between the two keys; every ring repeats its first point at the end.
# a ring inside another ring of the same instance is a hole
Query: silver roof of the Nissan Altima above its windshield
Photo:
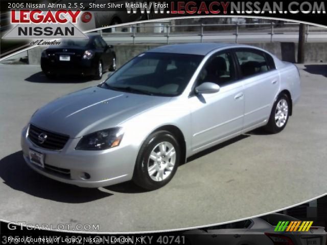
{"type": "MultiPolygon", "coordinates": [[[[207,55],[218,48],[225,48],[228,46],[235,46],[237,44],[230,43],[185,43],[166,45],[153,48],[147,52],[150,53],[176,53],[176,54],[190,54],[190,55],[207,55]]],[[[241,46],[241,45],[240,45],[241,46]]]]}

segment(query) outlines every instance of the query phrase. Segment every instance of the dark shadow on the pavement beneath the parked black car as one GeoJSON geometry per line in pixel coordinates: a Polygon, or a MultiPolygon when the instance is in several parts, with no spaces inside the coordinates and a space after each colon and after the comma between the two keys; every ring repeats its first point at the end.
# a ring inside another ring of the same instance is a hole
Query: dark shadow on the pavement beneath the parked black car
{"type": "Polygon", "coordinates": [[[82,76],[57,76],[53,79],[45,77],[42,71],[39,71],[30,77],[26,78],[25,81],[31,83],[86,83],[92,81],[92,77],[82,76]]]}

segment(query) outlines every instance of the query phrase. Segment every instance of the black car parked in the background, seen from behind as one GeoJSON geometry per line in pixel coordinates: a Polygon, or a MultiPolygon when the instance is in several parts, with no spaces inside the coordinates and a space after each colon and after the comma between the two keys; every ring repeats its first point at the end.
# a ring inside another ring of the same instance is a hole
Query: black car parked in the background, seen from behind
{"type": "Polygon", "coordinates": [[[46,48],[41,54],[41,68],[45,76],[94,76],[101,79],[106,70],[116,68],[113,46],[99,34],[88,34],[88,39],[62,39],[59,45],[46,48]]]}

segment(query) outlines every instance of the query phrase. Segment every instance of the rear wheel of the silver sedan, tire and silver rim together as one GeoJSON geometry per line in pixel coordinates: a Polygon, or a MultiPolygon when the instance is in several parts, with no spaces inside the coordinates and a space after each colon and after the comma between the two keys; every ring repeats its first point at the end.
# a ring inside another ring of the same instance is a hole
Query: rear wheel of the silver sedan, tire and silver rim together
{"type": "Polygon", "coordinates": [[[273,134],[281,132],[286,127],[289,118],[289,107],[289,97],[285,94],[279,95],[272,107],[268,124],[264,129],[273,134]]]}

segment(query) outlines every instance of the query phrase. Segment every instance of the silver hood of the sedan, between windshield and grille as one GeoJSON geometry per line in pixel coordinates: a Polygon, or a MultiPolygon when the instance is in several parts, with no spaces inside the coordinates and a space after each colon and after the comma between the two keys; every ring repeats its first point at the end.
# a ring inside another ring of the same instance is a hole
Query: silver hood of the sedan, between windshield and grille
{"type": "Polygon", "coordinates": [[[40,108],[32,116],[31,124],[76,138],[119,126],[123,121],[170,100],[171,97],[90,87],[40,108]]]}

